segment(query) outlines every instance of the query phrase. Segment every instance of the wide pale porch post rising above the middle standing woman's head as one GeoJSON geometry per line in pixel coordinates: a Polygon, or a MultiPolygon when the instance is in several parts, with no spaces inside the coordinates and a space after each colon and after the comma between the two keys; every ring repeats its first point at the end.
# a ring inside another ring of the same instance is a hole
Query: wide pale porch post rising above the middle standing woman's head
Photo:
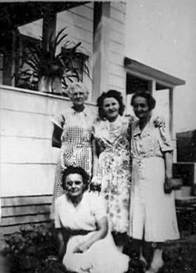
{"type": "Polygon", "coordinates": [[[94,2],[92,101],[109,87],[110,1],[94,2]]]}

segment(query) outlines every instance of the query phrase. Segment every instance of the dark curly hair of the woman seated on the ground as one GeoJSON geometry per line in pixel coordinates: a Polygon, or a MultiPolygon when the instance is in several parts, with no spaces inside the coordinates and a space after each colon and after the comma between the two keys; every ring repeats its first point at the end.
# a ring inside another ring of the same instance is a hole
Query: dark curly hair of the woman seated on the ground
{"type": "Polygon", "coordinates": [[[89,174],[82,167],[67,167],[63,172],[62,187],[66,190],[65,179],[69,174],[80,174],[84,182],[84,191],[89,187],[89,174]]]}

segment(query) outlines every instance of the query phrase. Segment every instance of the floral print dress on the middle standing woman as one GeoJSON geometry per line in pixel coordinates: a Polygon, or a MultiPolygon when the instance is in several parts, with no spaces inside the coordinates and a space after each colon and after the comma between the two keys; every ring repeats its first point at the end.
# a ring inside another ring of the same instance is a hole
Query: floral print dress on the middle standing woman
{"type": "Polygon", "coordinates": [[[115,122],[101,120],[95,127],[100,146],[98,182],[107,203],[112,231],[129,232],[131,188],[130,124],[131,117],[119,116],[115,122]]]}

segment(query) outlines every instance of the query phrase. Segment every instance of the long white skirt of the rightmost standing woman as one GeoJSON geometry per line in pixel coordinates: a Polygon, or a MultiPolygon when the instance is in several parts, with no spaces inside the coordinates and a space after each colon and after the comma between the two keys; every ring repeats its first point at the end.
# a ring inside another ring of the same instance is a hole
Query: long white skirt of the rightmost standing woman
{"type": "Polygon", "coordinates": [[[145,241],[178,239],[174,191],[164,193],[164,158],[133,158],[130,236],[145,241]]]}

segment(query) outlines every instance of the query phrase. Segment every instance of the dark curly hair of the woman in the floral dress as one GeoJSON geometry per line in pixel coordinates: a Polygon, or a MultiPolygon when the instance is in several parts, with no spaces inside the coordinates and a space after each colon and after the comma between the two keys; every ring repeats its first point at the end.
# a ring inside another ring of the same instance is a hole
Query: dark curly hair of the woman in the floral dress
{"type": "Polygon", "coordinates": [[[115,98],[119,102],[119,115],[123,115],[125,106],[123,103],[122,94],[117,90],[110,89],[107,92],[103,92],[103,94],[97,100],[98,115],[100,119],[105,120],[105,118],[107,118],[103,110],[103,101],[106,98],[115,98]]]}

